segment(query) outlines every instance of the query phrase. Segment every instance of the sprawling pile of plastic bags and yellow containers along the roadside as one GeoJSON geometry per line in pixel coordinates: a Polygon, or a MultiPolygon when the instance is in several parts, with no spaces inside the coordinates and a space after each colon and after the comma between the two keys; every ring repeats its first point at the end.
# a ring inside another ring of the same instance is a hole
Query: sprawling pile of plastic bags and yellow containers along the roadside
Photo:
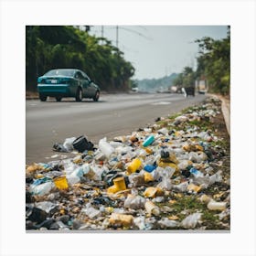
{"type": "Polygon", "coordinates": [[[229,229],[229,152],[209,128],[219,114],[209,98],[110,142],[55,144],[77,155],[27,165],[26,229],[229,229]]]}

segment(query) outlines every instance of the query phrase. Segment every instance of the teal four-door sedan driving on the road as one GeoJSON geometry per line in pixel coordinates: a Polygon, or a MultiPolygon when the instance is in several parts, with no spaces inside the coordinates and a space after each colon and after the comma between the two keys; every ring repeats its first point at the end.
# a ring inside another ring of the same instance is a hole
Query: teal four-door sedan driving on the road
{"type": "Polygon", "coordinates": [[[40,101],[47,101],[55,97],[56,101],[62,98],[74,97],[76,101],[82,98],[91,98],[98,101],[100,88],[89,76],[80,69],[51,69],[37,79],[37,91],[40,101]]]}

